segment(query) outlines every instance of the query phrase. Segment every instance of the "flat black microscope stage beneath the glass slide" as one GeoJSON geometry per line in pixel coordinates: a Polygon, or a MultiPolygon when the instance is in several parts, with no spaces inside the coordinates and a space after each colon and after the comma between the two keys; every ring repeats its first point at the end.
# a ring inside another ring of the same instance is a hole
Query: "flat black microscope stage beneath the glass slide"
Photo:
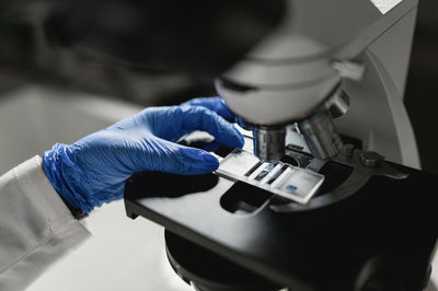
{"type": "Polygon", "coordinates": [[[277,212],[273,205],[284,201],[273,193],[216,174],[157,172],[132,176],[125,205],[130,218],[152,220],[272,281],[353,290],[379,261],[426,271],[437,238],[436,177],[397,168],[410,176],[373,176],[355,195],[309,211],[277,212]]]}

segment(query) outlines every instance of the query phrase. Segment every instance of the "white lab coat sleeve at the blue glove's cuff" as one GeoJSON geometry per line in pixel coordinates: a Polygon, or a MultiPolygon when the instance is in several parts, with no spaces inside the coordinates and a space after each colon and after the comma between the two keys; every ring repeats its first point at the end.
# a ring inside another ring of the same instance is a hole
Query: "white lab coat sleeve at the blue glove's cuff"
{"type": "Polygon", "coordinates": [[[42,159],[0,177],[0,290],[24,290],[90,233],[51,187],[42,159]]]}

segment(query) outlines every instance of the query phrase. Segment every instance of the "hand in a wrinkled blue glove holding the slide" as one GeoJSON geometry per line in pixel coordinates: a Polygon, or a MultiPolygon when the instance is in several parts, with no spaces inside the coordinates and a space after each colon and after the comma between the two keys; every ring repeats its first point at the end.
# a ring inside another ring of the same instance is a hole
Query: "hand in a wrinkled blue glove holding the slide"
{"type": "Polygon", "coordinates": [[[219,162],[214,155],[174,142],[203,130],[216,142],[242,148],[242,135],[220,115],[232,116],[220,98],[146,108],[71,146],[56,143],[44,153],[43,168],[65,200],[89,213],[103,202],[120,199],[125,182],[134,173],[197,175],[215,171],[219,162]]]}

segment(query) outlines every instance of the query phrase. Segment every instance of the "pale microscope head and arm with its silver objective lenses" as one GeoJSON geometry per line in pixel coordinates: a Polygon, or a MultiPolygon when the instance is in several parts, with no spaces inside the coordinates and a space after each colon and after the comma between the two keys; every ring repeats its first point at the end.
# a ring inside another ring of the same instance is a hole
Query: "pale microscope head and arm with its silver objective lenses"
{"type": "Polygon", "coordinates": [[[286,135],[279,128],[297,123],[319,159],[338,153],[338,130],[366,150],[419,167],[403,105],[417,1],[287,2],[277,30],[216,82],[254,129],[256,155],[278,160],[277,140],[286,135]],[[334,126],[338,105],[345,115],[334,126]]]}

